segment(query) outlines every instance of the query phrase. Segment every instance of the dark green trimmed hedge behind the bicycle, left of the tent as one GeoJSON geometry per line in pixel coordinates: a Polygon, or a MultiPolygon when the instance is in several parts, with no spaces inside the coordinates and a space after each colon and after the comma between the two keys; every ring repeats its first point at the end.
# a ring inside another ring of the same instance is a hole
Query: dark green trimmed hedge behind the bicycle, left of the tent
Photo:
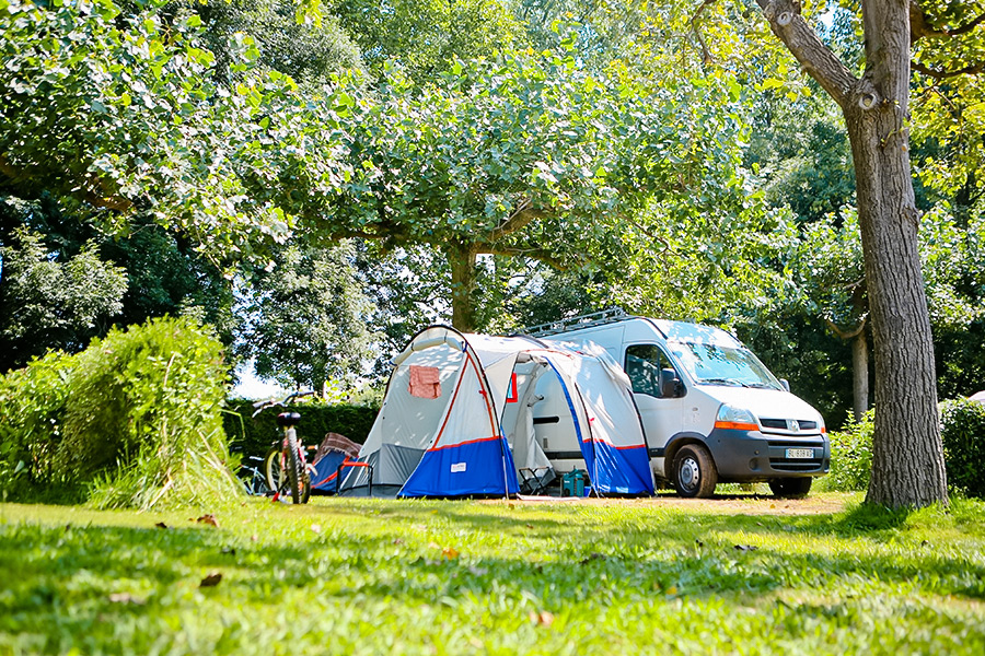
{"type": "MultiPolygon", "coordinates": [[[[230,399],[227,408],[222,422],[232,438],[233,450],[244,456],[263,456],[281,435],[277,425],[277,414],[283,411],[281,408],[268,408],[256,418],[251,417],[253,401],[230,399]]],[[[317,446],[329,432],[362,444],[380,411],[376,406],[327,405],[311,399],[302,399],[291,408],[301,413],[298,435],[306,446],[317,446]]]]}

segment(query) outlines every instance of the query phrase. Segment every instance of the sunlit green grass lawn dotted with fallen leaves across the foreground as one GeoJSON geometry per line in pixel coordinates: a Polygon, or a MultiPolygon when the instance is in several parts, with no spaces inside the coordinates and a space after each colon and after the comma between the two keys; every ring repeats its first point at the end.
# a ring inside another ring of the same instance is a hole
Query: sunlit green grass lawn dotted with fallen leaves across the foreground
{"type": "Polygon", "coordinates": [[[985,654],[985,504],[857,500],[4,504],[0,654],[985,654]]]}

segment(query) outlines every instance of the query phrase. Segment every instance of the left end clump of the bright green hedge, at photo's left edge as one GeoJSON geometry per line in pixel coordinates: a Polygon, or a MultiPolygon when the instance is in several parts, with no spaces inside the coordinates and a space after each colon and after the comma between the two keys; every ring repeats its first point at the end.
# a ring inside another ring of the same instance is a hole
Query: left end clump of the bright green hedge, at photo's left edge
{"type": "Polygon", "coordinates": [[[67,380],[76,360],[61,352],[32,360],[0,376],[0,496],[51,488],[61,441],[67,380]]]}

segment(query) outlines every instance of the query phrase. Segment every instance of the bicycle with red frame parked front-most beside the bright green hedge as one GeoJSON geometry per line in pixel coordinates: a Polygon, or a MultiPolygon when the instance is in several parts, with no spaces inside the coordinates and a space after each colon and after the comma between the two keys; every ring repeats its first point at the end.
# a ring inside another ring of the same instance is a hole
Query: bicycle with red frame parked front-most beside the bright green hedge
{"type": "MultiPolygon", "coordinates": [[[[253,405],[256,417],[267,408],[276,406],[287,407],[292,401],[313,395],[314,391],[301,391],[288,395],[283,400],[270,399],[257,401],[253,405]]],[[[267,485],[274,491],[274,499],[279,500],[288,491],[293,503],[308,503],[311,496],[311,472],[308,459],[304,457],[304,445],[298,438],[294,426],[301,421],[298,412],[281,412],[277,415],[277,425],[283,429],[283,438],[280,445],[275,442],[267,456],[264,458],[264,473],[267,485]],[[287,476],[285,476],[287,470],[287,476]]]]}

